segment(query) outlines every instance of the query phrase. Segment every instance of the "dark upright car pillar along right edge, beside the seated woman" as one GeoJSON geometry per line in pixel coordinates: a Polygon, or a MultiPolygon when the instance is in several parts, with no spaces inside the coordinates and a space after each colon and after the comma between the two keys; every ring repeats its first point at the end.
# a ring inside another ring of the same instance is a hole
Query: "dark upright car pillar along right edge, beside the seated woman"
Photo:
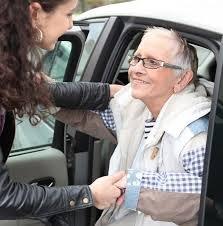
{"type": "MultiPolygon", "coordinates": [[[[212,108],[209,116],[209,128],[207,138],[207,151],[204,162],[201,204],[199,225],[222,225],[223,220],[220,222],[217,216],[210,216],[208,210],[208,203],[211,201],[221,202],[223,206],[223,139],[221,138],[223,133],[223,36],[219,41],[220,50],[217,58],[217,69],[215,75],[215,87],[212,97],[212,108]],[[211,219],[214,217],[213,219],[211,219]],[[212,223],[211,223],[212,222],[212,223]]],[[[214,204],[215,205],[215,204],[214,204]]],[[[211,206],[215,208],[215,206],[211,206]]],[[[212,212],[213,210],[211,210],[212,212]]],[[[222,215],[221,215],[222,216],[222,215]]]]}

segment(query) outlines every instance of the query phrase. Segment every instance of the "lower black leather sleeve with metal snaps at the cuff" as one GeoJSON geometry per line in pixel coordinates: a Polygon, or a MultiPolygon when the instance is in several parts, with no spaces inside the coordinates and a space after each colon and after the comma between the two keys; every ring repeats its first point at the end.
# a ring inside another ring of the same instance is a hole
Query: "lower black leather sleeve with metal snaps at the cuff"
{"type": "Polygon", "coordinates": [[[89,186],[44,187],[10,180],[0,164],[0,220],[43,218],[93,205],[89,186]],[[88,203],[83,202],[83,199],[88,203]]]}

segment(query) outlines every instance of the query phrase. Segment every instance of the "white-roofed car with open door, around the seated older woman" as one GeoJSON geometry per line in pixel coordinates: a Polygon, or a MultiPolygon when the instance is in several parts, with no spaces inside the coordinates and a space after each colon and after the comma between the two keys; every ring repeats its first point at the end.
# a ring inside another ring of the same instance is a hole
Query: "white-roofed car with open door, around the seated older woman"
{"type": "MultiPolygon", "coordinates": [[[[200,226],[223,225],[223,14],[217,0],[136,0],[98,7],[74,18],[51,52],[43,53],[44,72],[58,81],[128,83],[128,56],[148,26],[178,31],[198,53],[200,78],[214,84],[209,115],[200,226]],[[218,206],[218,214],[207,202],[218,206]]],[[[115,145],[55,121],[37,127],[17,121],[16,139],[7,161],[16,181],[63,186],[89,184],[107,174],[115,145]]],[[[78,210],[75,226],[92,226],[95,208],[78,210]]],[[[42,225],[34,220],[0,221],[5,225],[42,225]]]]}

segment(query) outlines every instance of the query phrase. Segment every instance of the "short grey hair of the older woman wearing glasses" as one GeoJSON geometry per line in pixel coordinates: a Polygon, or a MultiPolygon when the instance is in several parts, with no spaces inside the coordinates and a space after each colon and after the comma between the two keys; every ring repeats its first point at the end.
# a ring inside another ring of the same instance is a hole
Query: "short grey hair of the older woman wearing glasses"
{"type": "MultiPolygon", "coordinates": [[[[173,29],[163,27],[148,27],[142,37],[142,40],[150,34],[163,35],[176,43],[175,51],[173,51],[172,64],[178,65],[185,70],[192,70],[194,80],[197,77],[198,58],[196,49],[189,45],[178,32],[173,29]]],[[[172,54],[172,53],[171,53],[172,54]]],[[[180,75],[181,70],[175,70],[176,74],[180,75]]]]}

